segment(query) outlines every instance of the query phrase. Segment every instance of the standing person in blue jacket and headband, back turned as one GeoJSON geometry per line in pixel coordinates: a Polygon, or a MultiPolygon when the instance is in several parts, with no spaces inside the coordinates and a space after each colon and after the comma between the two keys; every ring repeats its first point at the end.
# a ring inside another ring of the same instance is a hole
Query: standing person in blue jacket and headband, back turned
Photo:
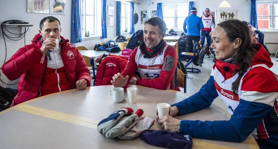
{"type": "Polygon", "coordinates": [[[193,53],[193,43],[200,41],[200,30],[204,28],[203,21],[198,17],[197,9],[195,7],[191,10],[191,15],[184,19],[184,33],[186,34],[186,52],[193,53]],[[187,28],[186,28],[187,26],[187,28]]]}

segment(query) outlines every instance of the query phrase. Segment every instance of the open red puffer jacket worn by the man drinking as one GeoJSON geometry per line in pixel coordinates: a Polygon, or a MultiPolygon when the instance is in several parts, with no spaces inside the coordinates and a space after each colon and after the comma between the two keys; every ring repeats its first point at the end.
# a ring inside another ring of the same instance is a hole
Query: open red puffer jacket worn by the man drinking
{"type": "MultiPolygon", "coordinates": [[[[38,95],[47,65],[47,57],[40,51],[41,38],[42,36],[37,34],[33,38],[32,44],[20,48],[1,67],[2,72],[9,80],[20,77],[18,93],[14,97],[11,107],[36,98],[38,95]]],[[[80,79],[85,79],[87,86],[91,86],[90,72],[82,55],[73,44],[68,43],[68,40],[62,36],[60,38],[63,40],[59,44],[61,45],[61,57],[71,88],[76,89],[75,82],[80,79]]]]}

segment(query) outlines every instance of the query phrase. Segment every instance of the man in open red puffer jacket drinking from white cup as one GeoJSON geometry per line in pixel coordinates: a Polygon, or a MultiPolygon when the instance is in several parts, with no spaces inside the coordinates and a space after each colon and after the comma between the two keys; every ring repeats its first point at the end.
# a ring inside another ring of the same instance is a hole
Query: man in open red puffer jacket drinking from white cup
{"type": "Polygon", "coordinates": [[[69,89],[91,86],[88,67],[73,44],[60,36],[61,23],[52,16],[40,22],[32,44],[20,48],[1,67],[10,80],[20,77],[18,94],[11,105],[69,89]],[[59,39],[59,48],[56,47],[59,39]]]}

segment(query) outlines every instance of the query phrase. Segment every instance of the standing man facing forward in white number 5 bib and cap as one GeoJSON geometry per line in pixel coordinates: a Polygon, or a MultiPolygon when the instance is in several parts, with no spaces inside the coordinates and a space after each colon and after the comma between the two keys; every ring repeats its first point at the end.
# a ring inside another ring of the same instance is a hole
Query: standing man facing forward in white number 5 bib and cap
{"type": "Polygon", "coordinates": [[[207,53],[207,58],[210,58],[210,40],[211,40],[211,35],[212,31],[215,27],[215,21],[212,15],[210,15],[210,9],[206,8],[204,11],[204,15],[201,16],[201,19],[204,24],[204,28],[201,30],[201,43],[200,46],[204,47],[205,43],[205,38],[207,37],[207,48],[206,48],[206,53],[207,53]]]}

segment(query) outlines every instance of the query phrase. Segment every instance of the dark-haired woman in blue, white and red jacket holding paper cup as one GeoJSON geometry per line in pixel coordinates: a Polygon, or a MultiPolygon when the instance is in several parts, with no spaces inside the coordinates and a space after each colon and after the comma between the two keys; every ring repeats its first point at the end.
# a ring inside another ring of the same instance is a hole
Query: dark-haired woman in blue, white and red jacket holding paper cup
{"type": "Polygon", "coordinates": [[[209,80],[189,98],[171,105],[169,115],[156,116],[162,129],[195,138],[242,142],[250,134],[260,148],[278,148],[278,75],[261,44],[251,43],[242,21],[232,19],[213,30],[216,63],[209,80]],[[210,106],[216,97],[231,114],[229,120],[178,120],[210,106]]]}

